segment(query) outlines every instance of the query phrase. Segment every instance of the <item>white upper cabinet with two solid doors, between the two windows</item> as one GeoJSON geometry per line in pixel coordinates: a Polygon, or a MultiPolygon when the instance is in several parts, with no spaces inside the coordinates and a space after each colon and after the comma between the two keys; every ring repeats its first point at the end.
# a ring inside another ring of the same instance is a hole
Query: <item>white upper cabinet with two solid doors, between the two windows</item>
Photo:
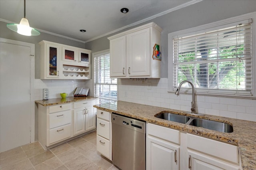
{"type": "Polygon", "coordinates": [[[110,77],[160,78],[160,60],[153,59],[162,29],[154,22],[116,34],[110,40],[110,77]]]}

